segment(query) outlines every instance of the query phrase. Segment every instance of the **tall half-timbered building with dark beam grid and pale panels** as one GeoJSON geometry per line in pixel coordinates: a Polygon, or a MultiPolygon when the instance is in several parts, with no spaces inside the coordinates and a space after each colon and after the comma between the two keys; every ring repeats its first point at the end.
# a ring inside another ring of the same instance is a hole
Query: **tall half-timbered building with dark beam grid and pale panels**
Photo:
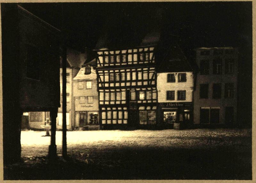
{"type": "Polygon", "coordinates": [[[156,124],[155,46],[97,50],[100,124],[156,124]]]}

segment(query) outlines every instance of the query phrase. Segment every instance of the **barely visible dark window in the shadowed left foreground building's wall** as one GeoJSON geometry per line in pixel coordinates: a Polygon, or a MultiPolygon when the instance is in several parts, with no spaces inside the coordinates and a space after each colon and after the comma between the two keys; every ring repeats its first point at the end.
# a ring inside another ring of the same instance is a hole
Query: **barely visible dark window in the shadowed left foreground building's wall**
{"type": "Polygon", "coordinates": [[[35,80],[40,79],[39,50],[30,45],[28,45],[27,50],[27,77],[35,80]]]}

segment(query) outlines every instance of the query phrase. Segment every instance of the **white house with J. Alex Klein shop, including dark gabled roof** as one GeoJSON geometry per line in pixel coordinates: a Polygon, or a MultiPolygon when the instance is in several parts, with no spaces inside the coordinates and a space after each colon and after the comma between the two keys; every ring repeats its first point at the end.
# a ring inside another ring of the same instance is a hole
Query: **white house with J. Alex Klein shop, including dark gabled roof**
{"type": "Polygon", "coordinates": [[[157,122],[161,126],[177,128],[193,121],[193,69],[180,50],[171,46],[157,68],[157,122]],[[175,127],[175,126],[174,126],[175,127]]]}

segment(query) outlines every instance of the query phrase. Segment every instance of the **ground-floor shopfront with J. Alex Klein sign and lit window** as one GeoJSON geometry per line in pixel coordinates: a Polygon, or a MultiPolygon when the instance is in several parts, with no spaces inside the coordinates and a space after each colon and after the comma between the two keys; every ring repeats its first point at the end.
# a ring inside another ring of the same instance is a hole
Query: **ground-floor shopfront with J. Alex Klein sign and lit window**
{"type": "Polygon", "coordinates": [[[157,121],[159,125],[183,123],[189,125],[192,122],[193,105],[191,102],[158,103],[157,121]]]}

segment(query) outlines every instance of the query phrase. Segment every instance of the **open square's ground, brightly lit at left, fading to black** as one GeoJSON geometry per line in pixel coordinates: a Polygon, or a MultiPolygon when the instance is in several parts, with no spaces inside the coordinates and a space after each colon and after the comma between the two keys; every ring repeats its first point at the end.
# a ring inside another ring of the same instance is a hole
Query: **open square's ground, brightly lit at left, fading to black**
{"type": "MultiPolygon", "coordinates": [[[[40,168],[49,166],[46,156],[50,137],[42,137],[44,134],[42,131],[21,132],[22,166],[34,167],[39,172],[40,168]]],[[[58,131],[59,157],[61,141],[62,132],[58,131]]],[[[251,129],[73,131],[67,132],[67,146],[73,163],[60,157],[61,170],[54,169],[57,172],[53,177],[42,177],[39,173],[38,179],[252,177],[251,129]]],[[[29,170],[19,176],[36,179],[29,170]]]]}

